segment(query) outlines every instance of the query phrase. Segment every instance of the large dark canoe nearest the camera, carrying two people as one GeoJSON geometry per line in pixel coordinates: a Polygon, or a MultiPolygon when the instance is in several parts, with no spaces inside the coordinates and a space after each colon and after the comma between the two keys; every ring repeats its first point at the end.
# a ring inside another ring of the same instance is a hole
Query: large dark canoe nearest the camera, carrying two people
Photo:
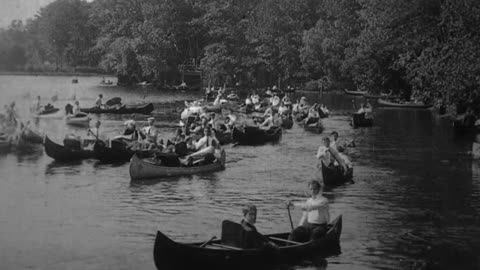
{"type": "MultiPolygon", "coordinates": [[[[224,221],[225,223],[225,221],[224,221]]],[[[158,231],[153,258],[158,270],[164,269],[271,269],[277,265],[294,265],[307,259],[339,254],[342,216],[330,225],[324,238],[306,243],[287,243],[289,233],[265,235],[278,249],[242,249],[223,241],[179,243],[158,231]]]]}

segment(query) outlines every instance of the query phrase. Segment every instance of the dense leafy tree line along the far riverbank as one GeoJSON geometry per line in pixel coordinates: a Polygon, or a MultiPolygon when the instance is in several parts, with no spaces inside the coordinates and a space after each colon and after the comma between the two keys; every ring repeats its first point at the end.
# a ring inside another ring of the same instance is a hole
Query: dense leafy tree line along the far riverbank
{"type": "MultiPolygon", "coordinates": [[[[474,102],[477,0],[57,0],[0,31],[0,68],[100,67],[122,81],[359,88],[474,102]]],[[[480,102],[479,102],[480,103],[480,102]]]]}

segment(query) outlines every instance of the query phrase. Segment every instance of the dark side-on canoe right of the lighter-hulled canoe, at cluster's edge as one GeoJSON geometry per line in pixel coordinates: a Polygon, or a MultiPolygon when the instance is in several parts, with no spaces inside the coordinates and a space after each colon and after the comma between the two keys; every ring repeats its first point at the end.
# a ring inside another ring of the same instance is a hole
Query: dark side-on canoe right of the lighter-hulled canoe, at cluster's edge
{"type": "Polygon", "coordinates": [[[245,127],[244,131],[233,128],[232,140],[240,145],[262,145],[269,142],[278,142],[282,137],[281,127],[272,127],[263,130],[258,127],[245,127]]]}

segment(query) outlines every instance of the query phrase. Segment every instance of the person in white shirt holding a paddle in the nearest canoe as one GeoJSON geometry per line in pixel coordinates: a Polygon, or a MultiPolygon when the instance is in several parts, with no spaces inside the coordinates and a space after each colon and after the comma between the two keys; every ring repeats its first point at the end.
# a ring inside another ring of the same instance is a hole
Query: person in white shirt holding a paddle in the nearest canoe
{"type": "Polygon", "coordinates": [[[322,186],[318,181],[310,181],[308,187],[312,196],[306,202],[287,202],[287,206],[299,207],[303,211],[299,226],[288,237],[291,241],[305,243],[321,239],[327,233],[330,222],[328,199],[322,196],[322,186]]]}

